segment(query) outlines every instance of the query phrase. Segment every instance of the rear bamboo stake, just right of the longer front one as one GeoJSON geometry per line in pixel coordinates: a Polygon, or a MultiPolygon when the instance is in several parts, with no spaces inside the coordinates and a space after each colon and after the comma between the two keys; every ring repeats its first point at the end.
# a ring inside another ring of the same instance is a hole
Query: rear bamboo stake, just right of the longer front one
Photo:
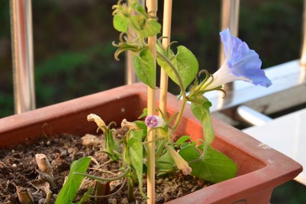
{"type": "MultiPolygon", "coordinates": [[[[168,38],[163,38],[163,47],[166,48],[170,43],[171,34],[171,14],[172,14],[172,0],[164,1],[164,17],[163,17],[163,36],[168,38]]],[[[160,110],[164,115],[167,111],[167,92],[168,92],[168,75],[161,68],[161,82],[160,82],[160,110]]],[[[162,114],[159,114],[162,116],[162,114]]]]}

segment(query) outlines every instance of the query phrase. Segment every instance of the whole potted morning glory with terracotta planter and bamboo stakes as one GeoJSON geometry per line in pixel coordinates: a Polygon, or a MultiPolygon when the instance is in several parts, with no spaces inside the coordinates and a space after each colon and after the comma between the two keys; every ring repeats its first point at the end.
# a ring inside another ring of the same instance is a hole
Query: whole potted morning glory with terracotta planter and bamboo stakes
{"type": "MultiPolygon", "coordinates": [[[[39,174],[39,178],[35,178],[36,183],[32,182],[31,185],[38,190],[44,189],[46,198],[40,202],[56,199],[56,203],[72,203],[86,177],[90,181],[95,180],[95,185],[92,187],[90,184],[77,203],[89,202],[91,197],[103,203],[105,197],[114,196],[122,188],[127,188],[130,202],[135,200],[133,190],[137,188],[142,200],[154,203],[155,176],[172,173],[183,179],[191,174],[197,177],[191,176],[192,180],[206,180],[209,186],[185,196],[181,193],[182,197],[176,192],[177,198],[169,203],[269,203],[273,188],[293,179],[301,171],[301,166],[234,127],[211,119],[211,104],[203,96],[208,91],[225,92],[222,84],[234,80],[269,86],[271,82],[260,69],[258,55],[227,29],[220,33],[225,48],[224,64],[214,74],[207,71],[198,74],[197,60],[189,49],[178,46],[174,54],[170,47],[172,43],[163,46],[162,38],[158,41],[154,38],[160,32],[161,25],[154,16],[156,7],[152,2],[148,5],[152,12],[148,13],[137,2],[126,6],[119,1],[113,7],[114,27],[122,32],[120,42],[114,43],[118,47],[115,58],[118,59],[118,55],[125,50],[131,50],[136,73],[148,88],[143,84],[123,86],[0,119],[0,146],[30,141],[42,133],[46,137],[62,133],[81,136],[95,134],[96,125],[88,123],[86,118],[97,124],[97,131],[103,133],[105,142],[105,148],[99,153],[108,156],[108,163],[121,164],[120,173],[107,177],[94,175],[93,172],[88,174],[86,171],[90,162],[97,165],[91,167],[92,170],[101,170],[101,164],[94,157],[71,159],[70,172],[61,191],[56,198],[51,198],[50,186],[55,185],[56,176],[52,166],[55,164],[50,164],[48,157],[37,154],[36,175],[39,174]],[[135,36],[128,32],[128,27],[135,32],[135,36]],[[127,39],[126,35],[132,39],[127,39]],[[155,52],[159,65],[179,85],[182,95],[182,100],[178,101],[176,96],[167,94],[166,110],[157,111],[160,116],[155,115],[155,52]],[[202,73],[206,74],[205,79],[199,82],[197,77],[202,73]],[[191,83],[188,94],[186,89],[191,83]],[[190,107],[187,101],[191,103],[190,107]],[[139,115],[145,120],[139,120],[139,115]],[[124,130],[119,132],[113,129],[112,121],[121,123],[124,130]],[[176,141],[173,140],[175,136],[179,137],[176,141]],[[143,191],[143,174],[148,179],[147,195],[143,191]],[[110,182],[117,180],[121,181],[120,187],[111,193],[110,182]],[[138,187],[135,187],[136,183],[138,187]],[[92,195],[93,191],[95,195],[92,195]]],[[[88,137],[93,141],[96,139],[88,137]]],[[[10,149],[10,152],[13,150],[10,149]]],[[[72,149],[71,157],[78,153],[78,150],[72,149]]],[[[61,158],[62,152],[58,154],[57,158],[61,158]]],[[[67,156],[67,153],[63,155],[67,156]]],[[[12,169],[16,166],[0,168],[12,169]]],[[[180,186],[182,184],[177,188],[180,186]]],[[[24,190],[16,185],[16,192],[20,203],[34,203],[32,193],[27,188],[24,190]]]]}

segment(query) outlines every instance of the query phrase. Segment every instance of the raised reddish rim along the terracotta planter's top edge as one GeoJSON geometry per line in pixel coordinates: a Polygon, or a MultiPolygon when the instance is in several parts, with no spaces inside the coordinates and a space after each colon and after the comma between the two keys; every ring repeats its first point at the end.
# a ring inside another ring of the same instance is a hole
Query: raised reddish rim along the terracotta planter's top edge
{"type": "MultiPolygon", "coordinates": [[[[10,142],[5,141],[6,138],[3,135],[10,134],[16,130],[22,131],[24,127],[40,125],[42,121],[52,123],[52,121],[63,118],[64,116],[73,116],[80,112],[97,108],[101,106],[101,101],[104,104],[108,104],[113,100],[131,96],[138,96],[142,100],[146,101],[146,93],[147,87],[142,83],[137,83],[2,118],[0,119],[0,148],[5,145],[10,145],[10,142]]],[[[159,94],[157,93],[156,95],[158,96],[159,94]]],[[[182,102],[177,101],[176,96],[169,93],[167,100],[169,110],[172,112],[179,111],[182,102]]],[[[197,126],[199,126],[199,122],[193,116],[190,109],[185,109],[183,117],[186,119],[187,123],[194,125],[197,124],[197,126]]],[[[216,138],[224,140],[229,145],[232,145],[241,151],[246,152],[249,156],[258,159],[264,164],[263,167],[239,175],[233,179],[197,190],[167,203],[195,203],[193,198],[196,199],[199,196],[203,199],[202,201],[205,201],[205,203],[211,203],[214,201],[222,202],[222,200],[224,201],[224,199],[229,196],[232,196],[231,198],[233,198],[233,200],[238,200],[241,199],[245,193],[253,193],[254,191],[261,192],[265,189],[273,189],[286,181],[292,180],[302,171],[302,166],[294,160],[241,132],[235,127],[232,127],[216,118],[213,118],[213,124],[216,138]]],[[[21,136],[17,137],[13,140],[13,143],[20,142],[21,139],[21,136]]]]}

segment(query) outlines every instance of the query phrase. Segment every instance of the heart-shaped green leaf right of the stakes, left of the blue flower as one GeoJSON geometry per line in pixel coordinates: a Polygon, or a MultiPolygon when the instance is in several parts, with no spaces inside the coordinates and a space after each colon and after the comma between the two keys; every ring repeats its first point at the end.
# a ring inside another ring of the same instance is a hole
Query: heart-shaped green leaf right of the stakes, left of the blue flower
{"type": "MultiPolygon", "coordinates": [[[[195,79],[199,69],[199,64],[192,52],[185,46],[178,46],[176,55],[173,54],[172,50],[168,50],[168,58],[171,59],[172,64],[179,72],[184,88],[186,89],[189,84],[195,79]]],[[[179,80],[176,75],[162,58],[157,58],[158,64],[165,70],[171,80],[179,85],[179,80]]]]}

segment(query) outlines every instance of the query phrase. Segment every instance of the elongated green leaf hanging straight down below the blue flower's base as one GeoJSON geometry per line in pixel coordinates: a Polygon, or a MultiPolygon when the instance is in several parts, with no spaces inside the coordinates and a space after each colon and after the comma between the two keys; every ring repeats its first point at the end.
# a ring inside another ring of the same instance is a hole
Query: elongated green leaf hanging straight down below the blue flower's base
{"type": "Polygon", "coordinates": [[[204,139],[210,144],[215,138],[214,127],[209,111],[211,103],[204,96],[198,96],[195,100],[200,104],[192,102],[190,109],[193,115],[202,123],[204,139]]]}

